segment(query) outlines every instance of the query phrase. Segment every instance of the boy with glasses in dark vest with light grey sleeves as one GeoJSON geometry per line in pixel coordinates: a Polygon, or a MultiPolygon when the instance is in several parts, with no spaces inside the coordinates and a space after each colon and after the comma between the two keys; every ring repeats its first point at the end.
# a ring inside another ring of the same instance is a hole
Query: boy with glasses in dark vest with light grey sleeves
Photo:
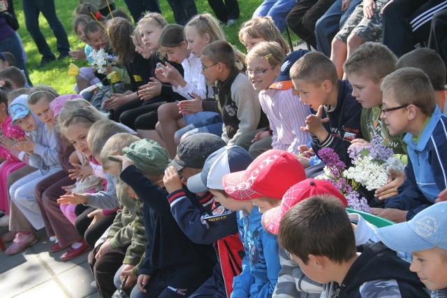
{"type": "MultiPolygon", "coordinates": [[[[214,41],[205,45],[200,52],[202,73],[208,83],[217,87],[216,99],[205,99],[202,102],[203,111],[213,111],[222,114],[222,139],[229,146],[235,145],[237,138],[245,132],[251,132],[258,127],[266,126],[265,115],[261,117],[261,105],[249,78],[236,66],[236,55],[233,46],[226,41],[214,41]]],[[[194,98],[200,99],[196,94],[194,98]]],[[[204,132],[194,128],[182,139],[204,132]]]]}

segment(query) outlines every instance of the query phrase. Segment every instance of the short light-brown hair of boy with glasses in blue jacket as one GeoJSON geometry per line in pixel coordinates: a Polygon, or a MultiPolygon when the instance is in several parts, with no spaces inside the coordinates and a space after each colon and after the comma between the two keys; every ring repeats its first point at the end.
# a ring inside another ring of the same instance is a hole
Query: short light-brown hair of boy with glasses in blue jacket
{"type": "Polygon", "coordinates": [[[382,92],[390,92],[401,106],[413,104],[427,116],[436,106],[434,89],[428,76],[420,69],[404,67],[386,76],[381,85],[382,92]]]}

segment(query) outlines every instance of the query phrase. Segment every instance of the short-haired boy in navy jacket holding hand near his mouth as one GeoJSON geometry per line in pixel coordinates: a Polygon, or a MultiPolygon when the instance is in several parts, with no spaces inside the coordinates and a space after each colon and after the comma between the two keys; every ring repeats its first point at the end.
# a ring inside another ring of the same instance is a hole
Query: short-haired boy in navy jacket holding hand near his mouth
{"type": "Polygon", "coordinates": [[[304,55],[293,64],[290,76],[300,101],[316,111],[301,127],[311,135],[312,149],[318,155],[318,150],[330,147],[350,166],[348,147],[362,138],[362,106],[352,97],[351,85],[338,79],[335,65],[321,52],[304,55]]]}

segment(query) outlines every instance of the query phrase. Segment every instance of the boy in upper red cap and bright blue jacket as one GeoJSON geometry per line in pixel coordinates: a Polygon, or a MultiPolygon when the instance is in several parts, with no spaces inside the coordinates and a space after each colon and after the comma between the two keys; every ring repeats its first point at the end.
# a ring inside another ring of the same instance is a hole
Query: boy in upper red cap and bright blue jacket
{"type": "Polygon", "coordinates": [[[225,192],[212,191],[215,199],[226,208],[242,210],[238,225],[250,266],[245,267],[242,274],[234,278],[232,297],[254,297],[254,290],[260,288],[258,284],[262,283],[263,279],[263,292],[258,292],[256,296],[272,295],[280,269],[279,248],[276,236],[263,230],[261,213],[278,206],[286,190],[303,179],[304,169],[291,153],[268,150],[259,155],[247,170],[223,176],[225,192]],[[250,285],[247,281],[251,276],[255,279],[250,285]],[[265,276],[270,282],[265,280],[265,276]],[[247,285],[250,285],[250,288],[247,288],[247,285]]]}

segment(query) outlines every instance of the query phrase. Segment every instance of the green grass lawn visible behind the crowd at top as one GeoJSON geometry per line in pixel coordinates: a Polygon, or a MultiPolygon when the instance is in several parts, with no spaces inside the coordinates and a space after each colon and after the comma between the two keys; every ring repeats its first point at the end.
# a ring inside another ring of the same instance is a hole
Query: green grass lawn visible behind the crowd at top
{"type": "MultiPolygon", "coordinates": [[[[168,20],[168,22],[174,22],[173,12],[172,10],[170,10],[170,6],[168,5],[167,1],[159,1],[163,16],[166,17],[166,20],[168,20]]],[[[239,31],[242,22],[249,20],[251,15],[253,15],[254,10],[260,3],[262,3],[262,1],[263,0],[240,0],[240,19],[231,27],[223,26],[223,30],[228,36],[228,41],[230,43],[233,43],[233,45],[236,45],[237,48],[240,48],[240,50],[242,51],[244,51],[244,48],[237,38],[237,31],[239,31]]],[[[78,37],[72,29],[73,10],[75,10],[75,7],[78,5],[78,1],[55,0],[54,2],[56,5],[59,20],[61,20],[62,24],[64,24],[64,28],[68,34],[68,41],[70,41],[71,48],[74,49],[79,46],[83,46],[83,43],[78,40],[78,37]]],[[[117,7],[126,8],[123,0],[115,0],[115,4],[117,7]]],[[[208,6],[207,0],[196,0],[196,5],[199,13],[212,13],[212,9],[210,8],[210,6],[208,6]]],[[[73,93],[73,85],[75,84],[75,79],[71,76],[68,76],[67,71],[68,64],[74,62],[74,60],[71,58],[67,58],[63,61],[51,62],[43,66],[41,69],[38,69],[37,64],[41,62],[41,55],[39,54],[34,41],[32,40],[25,27],[22,1],[14,0],[14,8],[20,22],[20,29],[18,30],[18,33],[22,37],[22,42],[24,44],[25,51],[27,52],[27,68],[33,84],[50,85],[57,91],[59,91],[60,94],[73,93]]],[[[39,22],[41,25],[41,31],[43,32],[43,35],[47,37],[47,42],[50,45],[50,48],[52,48],[55,55],[59,55],[56,48],[56,38],[52,34],[50,27],[48,26],[45,18],[42,15],[39,18],[39,22]]],[[[78,66],[82,66],[82,62],[80,61],[75,62],[75,64],[77,64],[78,66]]]]}

